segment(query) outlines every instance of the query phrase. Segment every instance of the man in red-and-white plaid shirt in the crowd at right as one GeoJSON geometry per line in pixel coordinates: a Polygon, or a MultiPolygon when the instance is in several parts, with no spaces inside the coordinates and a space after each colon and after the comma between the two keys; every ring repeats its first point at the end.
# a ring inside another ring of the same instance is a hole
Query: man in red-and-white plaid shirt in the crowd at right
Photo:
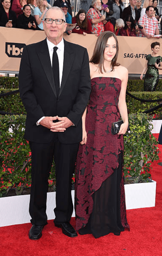
{"type": "Polygon", "coordinates": [[[138,21],[139,25],[141,25],[143,29],[139,30],[137,37],[151,38],[154,37],[154,35],[159,35],[157,19],[154,18],[153,15],[154,7],[148,6],[146,8],[146,14],[138,21]]]}

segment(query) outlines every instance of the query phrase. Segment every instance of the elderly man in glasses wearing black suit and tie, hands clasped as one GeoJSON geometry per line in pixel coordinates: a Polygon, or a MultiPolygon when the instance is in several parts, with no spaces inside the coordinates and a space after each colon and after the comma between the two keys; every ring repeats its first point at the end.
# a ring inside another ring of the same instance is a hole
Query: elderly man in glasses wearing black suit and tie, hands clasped
{"type": "Polygon", "coordinates": [[[26,108],[24,138],[32,153],[29,238],[37,240],[47,224],[48,177],[56,168],[55,226],[76,237],[70,224],[73,212],[71,177],[79,142],[82,114],[91,92],[86,48],[63,40],[65,15],[58,7],[47,10],[43,21],[47,38],[24,47],[19,70],[19,92],[26,108]]]}

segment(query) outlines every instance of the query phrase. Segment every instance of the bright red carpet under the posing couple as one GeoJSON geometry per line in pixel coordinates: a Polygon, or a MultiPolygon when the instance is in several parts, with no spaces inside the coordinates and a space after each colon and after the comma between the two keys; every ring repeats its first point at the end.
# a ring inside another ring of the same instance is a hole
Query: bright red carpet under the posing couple
{"type": "MultiPolygon", "coordinates": [[[[157,137],[157,135],[155,135],[157,137]]],[[[162,152],[162,145],[159,145],[162,152]]],[[[159,154],[162,162],[162,153],[159,154]]],[[[157,162],[157,163],[158,163],[157,162]]],[[[28,238],[31,224],[0,228],[0,256],[161,256],[162,255],[162,166],[152,165],[157,181],[156,206],[127,210],[130,232],[95,239],[91,234],[68,238],[48,221],[42,238],[28,238]]],[[[71,223],[75,226],[75,218],[71,223]]]]}

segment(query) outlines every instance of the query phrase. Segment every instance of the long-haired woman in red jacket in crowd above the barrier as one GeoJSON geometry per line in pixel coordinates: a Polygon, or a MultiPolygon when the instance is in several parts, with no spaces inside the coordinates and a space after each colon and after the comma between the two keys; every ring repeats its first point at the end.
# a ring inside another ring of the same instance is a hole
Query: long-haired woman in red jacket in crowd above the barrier
{"type": "Polygon", "coordinates": [[[84,9],[79,10],[77,15],[72,18],[72,23],[77,23],[76,27],[72,30],[73,33],[91,34],[91,22],[87,19],[84,9]]]}

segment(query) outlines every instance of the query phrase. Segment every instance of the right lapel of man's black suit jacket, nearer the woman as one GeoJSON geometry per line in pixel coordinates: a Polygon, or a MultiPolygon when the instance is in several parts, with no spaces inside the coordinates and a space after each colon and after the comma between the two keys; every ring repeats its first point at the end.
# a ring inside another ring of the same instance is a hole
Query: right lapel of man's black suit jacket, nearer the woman
{"type": "Polygon", "coordinates": [[[63,87],[65,86],[66,80],[70,73],[70,69],[73,64],[73,59],[74,59],[74,53],[70,48],[70,43],[64,40],[63,73],[62,73],[62,82],[60,86],[59,96],[62,93],[63,87]]]}

